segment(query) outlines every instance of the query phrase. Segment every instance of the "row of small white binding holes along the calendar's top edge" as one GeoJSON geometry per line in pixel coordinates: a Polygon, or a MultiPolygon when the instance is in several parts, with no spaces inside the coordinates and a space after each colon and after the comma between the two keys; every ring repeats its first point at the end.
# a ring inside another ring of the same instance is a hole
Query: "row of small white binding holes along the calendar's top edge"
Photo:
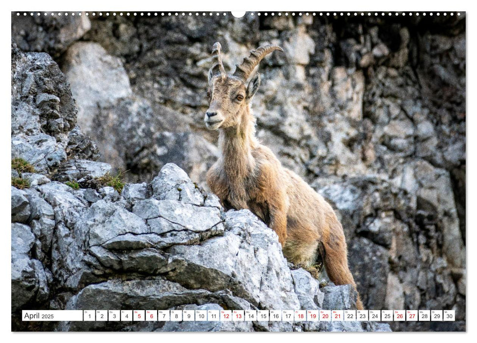
{"type": "MultiPolygon", "coordinates": [[[[27,16],[27,15],[30,15],[30,16],[41,16],[41,15],[44,15],[44,16],[81,16],[83,14],[83,12],[17,12],[17,16],[27,16]]],[[[146,17],[151,17],[151,16],[176,16],[176,17],[179,17],[179,16],[182,16],[182,17],[185,17],[185,16],[220,16],[220,15],[223,15],[223,16],[226,16],[227,13],[226,12],[84,12],[84,15],[85,16],[92,16],[92,17],[95,17],[95,16],[116,16],[116,15],[119,15],[119,16],[126,16],[126,17],[129,17],[129,16],[146,16],[146,17]]],[[[453,16],[454,15],[454,12],[387,12],[387,15],[388,16],[426,16],[426,15],[429,15],[429,16],[433,16],[433,15],[436,15],[436,16],[440,16],[440,15],[443,15],[443,16],[447,16],[448,14],[450,16],[453,16]]],[[[460,12],[457,12],[456,13],[457,16],[460,16],[461,13],[460,12]]],[[[254,12],[250,12],[249,13],[250,16],[254,16],[255,13],[254,12]]],[[[347,16],[347,17],[351,17],[351,16],[355,16],[355,17],[358,17],[358,16],[375,16],[375,17],[378,17],[378,16],[385,16],[386,13],[385,12],[305,12],[305,13],[302,13],[302,12],[278,12],[278,13],[275,13],[275,12],[271,12],[271,13],[268,13],[268,12],[257,12],[256,13],[257,16],[282,16],[284,15],[285,17],[286,16],[327,16],[327,17],[344,17],[344,16],[347,16]]]]}

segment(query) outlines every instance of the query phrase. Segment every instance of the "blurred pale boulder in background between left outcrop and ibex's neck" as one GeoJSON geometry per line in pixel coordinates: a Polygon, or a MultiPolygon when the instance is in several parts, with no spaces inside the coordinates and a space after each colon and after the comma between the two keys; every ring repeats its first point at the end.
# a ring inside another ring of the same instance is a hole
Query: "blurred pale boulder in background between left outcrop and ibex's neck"
{"type": "Polygon", "coordinates": [[[217,149],[192,132],[165,131],[170,124],[162,116],[167,113],[158,116],[148,101],[132,93],[118,58],[96,43],[79,42],[68,49],[63,70],[79,105],[78,123],[96,142],[103,161],[131,171],[129,180],[133,174],[153,176],[168,162],[187,168],[196,180],[204,178],[217,149]],[[184,145],[193,148],[177,148],[184,145]]]}

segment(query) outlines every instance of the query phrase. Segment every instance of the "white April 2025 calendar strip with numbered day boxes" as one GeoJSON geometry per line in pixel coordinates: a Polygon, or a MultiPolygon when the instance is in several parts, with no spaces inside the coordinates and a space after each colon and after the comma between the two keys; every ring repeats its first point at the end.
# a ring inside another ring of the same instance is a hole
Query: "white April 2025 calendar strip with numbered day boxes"
{"type": "Polygon", "coordinates": [[[23,310],[23,321],[455,321],[455,310],[23,310]]]}

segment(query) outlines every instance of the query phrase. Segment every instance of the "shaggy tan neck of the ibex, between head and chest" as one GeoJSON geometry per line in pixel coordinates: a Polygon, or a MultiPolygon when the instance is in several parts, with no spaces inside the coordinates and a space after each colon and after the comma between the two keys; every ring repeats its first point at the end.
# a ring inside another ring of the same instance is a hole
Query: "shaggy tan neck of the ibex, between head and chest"
{"type": "Polygon", "coordinates": [[[222,129],[219,144],[227,176],[233,179],[247,177],[255,169],[252,150],[257,145],[252,115],[245,113],[240,125],[222,129]]]}

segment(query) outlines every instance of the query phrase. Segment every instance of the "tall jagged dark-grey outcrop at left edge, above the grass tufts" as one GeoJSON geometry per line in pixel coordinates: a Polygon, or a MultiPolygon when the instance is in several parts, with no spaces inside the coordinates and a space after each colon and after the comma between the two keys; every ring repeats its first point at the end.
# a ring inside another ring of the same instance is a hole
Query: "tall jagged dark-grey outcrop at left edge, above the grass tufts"
{"type": "MultiPolygon", "coordinates": [[[[68,133],[76,125],[70,86],[48,54],[24,54],[15,44],[12,85],[12,159],[25,159],[37,172],[51,172],[66,160],[68,133]]],[[[83,142],[91,145],[87,138],[83,142]]]]}

